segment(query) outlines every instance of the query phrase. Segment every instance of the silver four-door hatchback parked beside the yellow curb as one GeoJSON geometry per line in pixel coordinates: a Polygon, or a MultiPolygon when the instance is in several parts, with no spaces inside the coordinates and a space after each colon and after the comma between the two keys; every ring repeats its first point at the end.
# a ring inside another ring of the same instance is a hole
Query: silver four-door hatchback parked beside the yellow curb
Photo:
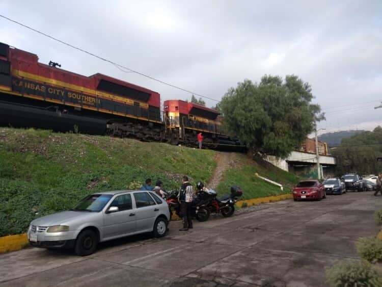
{"type": "Polygon", "coordinates": [[[74,248],[90,255],[98,242],[152,232],[165,236],[170,220],[167,202],[150,191],[109,191],[81,200],[70,211],[35,219],[28,229],[32,246],[74,248]]]}

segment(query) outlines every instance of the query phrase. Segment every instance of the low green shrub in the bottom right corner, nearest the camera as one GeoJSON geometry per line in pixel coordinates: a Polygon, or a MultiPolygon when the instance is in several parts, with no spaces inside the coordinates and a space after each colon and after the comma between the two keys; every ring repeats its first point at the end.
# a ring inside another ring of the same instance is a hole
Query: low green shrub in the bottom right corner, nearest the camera
{"type": "Polygon", "coordinates": [[[336,262],[326,269],[326,280],[335,287],[382,286],[381,274],[367,262],[336,262]]]}

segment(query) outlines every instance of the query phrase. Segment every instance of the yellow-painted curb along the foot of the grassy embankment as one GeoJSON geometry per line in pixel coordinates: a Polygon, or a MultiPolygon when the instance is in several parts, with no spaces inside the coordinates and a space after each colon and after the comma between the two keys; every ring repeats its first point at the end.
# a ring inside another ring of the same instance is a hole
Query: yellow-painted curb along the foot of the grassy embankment
{"type": "MultiPolygon", "coordinates": [[[[292,199],[292,198],[293,198],[293,195],[291,194],[282,194],[282,195],[276,195],[276,196],[243,199],[243,200],[237,201],[236,205],[238,207],[241,207],[243,203],[247,203],[247,206],[252,206],[256,204],[268,203],[272,201],[279,201],[279,200],[292,199]]],[[[181,218],[179,218],[175,214],[175,212],[173,212],[171,220],[173,221],[173,220],[180,220],[180,219],[181,218]]],[[[382,239],[382,230],[378,233],[378,238],[382,239]]],[[[28,236],[26,235],[26,233],[0,237],[0,254],[9,252],[9,251],[20,250],[28,244],[29,244],[28,236]]]]}

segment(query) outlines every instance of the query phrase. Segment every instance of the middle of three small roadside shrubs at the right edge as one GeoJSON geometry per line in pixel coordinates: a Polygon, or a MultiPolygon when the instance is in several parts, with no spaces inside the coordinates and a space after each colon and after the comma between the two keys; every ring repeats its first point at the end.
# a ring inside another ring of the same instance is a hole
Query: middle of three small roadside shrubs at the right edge
{"type": "Polygon", "coordinates": [[[358,254],[368,262],[382,260],[382,240],[375,237],[361,237],[356,242],[358,254]]]}

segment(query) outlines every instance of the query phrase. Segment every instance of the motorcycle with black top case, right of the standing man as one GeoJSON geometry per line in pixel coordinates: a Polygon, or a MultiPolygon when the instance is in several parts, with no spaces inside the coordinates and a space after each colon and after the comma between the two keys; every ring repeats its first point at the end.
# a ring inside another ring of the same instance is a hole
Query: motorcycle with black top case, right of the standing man
{"type": "Polygon", "coordinates": [[[217,197],[213,190],[202,189],[198,191],[198,197],[205,202],[210,213],[221,213],[224,217],[230,217],[235,212],[237,198],[243,194],[239,187],[231,187],[230,195],[217,197]],[[207,203],[206,203],[207,202],[207,203]]]}

